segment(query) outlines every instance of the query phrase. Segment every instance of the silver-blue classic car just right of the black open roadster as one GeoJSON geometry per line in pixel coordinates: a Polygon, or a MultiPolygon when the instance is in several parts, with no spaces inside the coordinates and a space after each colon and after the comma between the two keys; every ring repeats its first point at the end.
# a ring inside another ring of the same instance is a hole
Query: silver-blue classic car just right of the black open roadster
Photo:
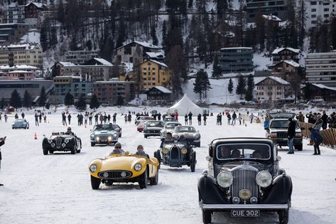
{"type": "Polygon", "coordinates": [[[115,144],[118,139],[119,133],[114,129],[113,124],[94,125],[90,136],[91,146],[96,144],[115,144]]]}

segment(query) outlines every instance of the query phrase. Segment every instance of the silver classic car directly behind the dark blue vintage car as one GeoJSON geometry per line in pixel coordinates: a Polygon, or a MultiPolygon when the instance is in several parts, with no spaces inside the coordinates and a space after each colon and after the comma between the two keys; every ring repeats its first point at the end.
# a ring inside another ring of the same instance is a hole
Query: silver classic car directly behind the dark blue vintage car
{"type": "Polygon", "coordinates": [[[193,126],[177,126],[173,131],[173,138],[178,139],[181,135],[188,140],[188,142],[195,146],[200,147],[200,132],[193,126]]]}

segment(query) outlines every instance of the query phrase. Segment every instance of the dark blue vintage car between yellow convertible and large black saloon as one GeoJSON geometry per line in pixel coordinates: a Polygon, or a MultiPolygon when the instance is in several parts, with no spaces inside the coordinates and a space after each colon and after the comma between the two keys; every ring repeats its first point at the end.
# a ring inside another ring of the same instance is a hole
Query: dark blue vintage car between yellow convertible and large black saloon
{"type": "Polygon", "coordinates": [[[163,140],[160,149],[154,152],[154,157],[166,166],[182,167],[187,165],[190,166],[192,172],[195,172],[196,151],[185,139],[163,140]]]}

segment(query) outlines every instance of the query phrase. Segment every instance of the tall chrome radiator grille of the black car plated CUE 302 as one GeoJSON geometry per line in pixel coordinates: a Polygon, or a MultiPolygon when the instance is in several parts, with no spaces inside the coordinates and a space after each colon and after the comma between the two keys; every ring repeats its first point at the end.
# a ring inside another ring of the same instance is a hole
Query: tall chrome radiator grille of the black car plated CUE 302
{"type": "MultiPolygon", "coordinates": [[[[232,171],[233,183],[231,186],[232,198],[239,198],[239,191],[247,189],[251,191],[251,197],[258,197],[259,187],[256,184],[256,171],[251,171],[249,169],[239,169],[237,171],[232,171]]],[[[240,203],[243,203],[241,200],[240,203]]],[[[247,202],[249,203],[249,201],[247,202]]]]}

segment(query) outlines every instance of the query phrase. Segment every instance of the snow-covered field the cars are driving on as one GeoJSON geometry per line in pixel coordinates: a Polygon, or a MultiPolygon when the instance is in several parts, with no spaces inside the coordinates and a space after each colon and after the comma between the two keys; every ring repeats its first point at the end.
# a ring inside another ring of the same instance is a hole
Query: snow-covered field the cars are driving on
{"type": "MultiPolygon", "coordinates": [[[[43,134],[49,136],[53,131],[66,130],[61,124],[61,112],[47,114],[48,123],[40,127],[34,125],[33,111],[27,112],[31,124],[28,130],[11,129],[13,114],[8,123],[2,118],[0,137],[7,139],[1,147],[0,183],[4,186],[0,187],[0,223],[202,223],[197,178],[207,167],[207,145],[217,137],[265,136],[261,124],[228,126],[224,119],[224,125],[217,126],[215,117],[209,117],[207,126],[195,125],[201,134],[201,147],[195,149],[195,173],[188,166],[183,169],[161,166],[157,186],[140,190],[137,183],[121,183],[110,187],[101,185],[98,191],[93,191],[87,166],[92,159],[112,151],[113,146],[90,146],[91,127],[77,127],[74,110],[71,127],[82,138],[82,152],[43,156],[43,134]]],[[[117,123],[122,127],[119,142],[123,149],[135,152],[136,146],[143,144],[150,155],[158,149],[160,139],[144,139],[143,134],[136,132],[134,122],[124,124],[119,108],[110,107],[106,112],[119,112],[117,123]]],[[[195,117],[193,122],[197,124],[195,117]]],[[[312,156],[313,146],[307,144],[305,140],[303,151],[293,155],[286,154],[286,149],[279,152],[280,166],[293,179],[289,223],[336,223],[336,151],[321,147],[322,155],[312,156]]],[[[215,213],[213,222],[278,223],[278,215],[261,213],[260,218],[244,219],[215,213]]]]}

